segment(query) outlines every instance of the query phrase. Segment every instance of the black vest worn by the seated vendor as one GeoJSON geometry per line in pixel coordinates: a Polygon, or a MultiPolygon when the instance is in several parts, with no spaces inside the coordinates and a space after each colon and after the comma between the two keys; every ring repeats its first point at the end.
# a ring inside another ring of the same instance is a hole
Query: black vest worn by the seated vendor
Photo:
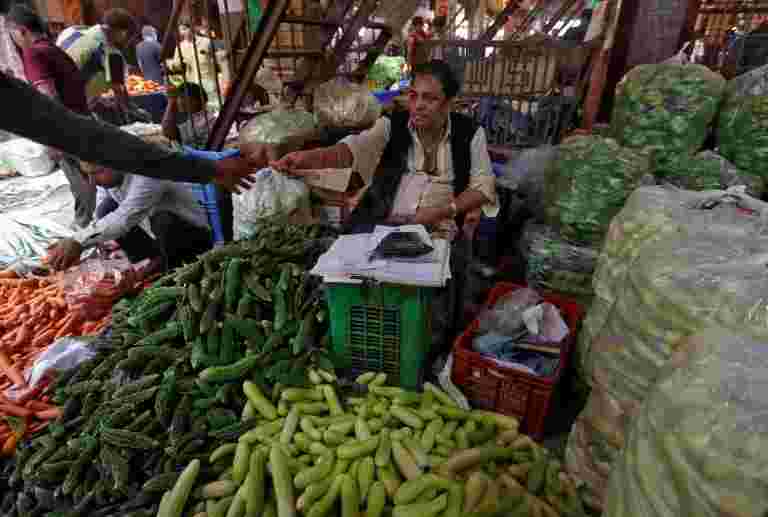
{"type": "MultiPolygon", "coordinates": [[[[392,212],[400,181],[408,170],[408,150],[413,145],[413,138],[408,130],[408,112],[394,113],[389,118],[389,143],[384,148],[373,182],[344,225],[345,233],[371,231],[372,226],[381,224],[392,212]]],[[[455,196],[467,190],[469,186],[472,168],[470,147],[476,132],[477,125],[472,119],[466,115],[451,113],[450,142],[455,196]]],[[[463,220],[463,217],[461,219],[463,220]]],[[[461,222],[457,221],[459,227],[461,222]]]]}

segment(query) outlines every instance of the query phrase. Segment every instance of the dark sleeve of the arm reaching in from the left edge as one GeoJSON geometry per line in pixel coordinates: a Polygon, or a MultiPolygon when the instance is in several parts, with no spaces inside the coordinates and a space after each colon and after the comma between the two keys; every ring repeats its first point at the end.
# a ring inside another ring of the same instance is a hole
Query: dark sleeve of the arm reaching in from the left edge
{"type": "Polygon", "coordinates": [[[208,183],[214,163],[182,156],[68,110],[31,86],[0,73],[0,129],[87,162],[151,178],[208,183]]]}

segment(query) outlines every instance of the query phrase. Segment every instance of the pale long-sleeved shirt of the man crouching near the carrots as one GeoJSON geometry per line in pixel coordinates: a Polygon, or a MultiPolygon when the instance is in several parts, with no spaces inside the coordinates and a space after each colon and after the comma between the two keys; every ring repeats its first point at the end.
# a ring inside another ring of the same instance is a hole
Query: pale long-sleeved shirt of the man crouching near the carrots
{"type": "Polygon", "coordinates": [[[208,216],[190,183],[126,174],[119,187],[99,187],[97,206],[108,197],[118,208],[74,235],[85,248],[120,238],[137,225],[146,225],[156,212],[171,212],[190,224],[208,228],[208,216]]]}

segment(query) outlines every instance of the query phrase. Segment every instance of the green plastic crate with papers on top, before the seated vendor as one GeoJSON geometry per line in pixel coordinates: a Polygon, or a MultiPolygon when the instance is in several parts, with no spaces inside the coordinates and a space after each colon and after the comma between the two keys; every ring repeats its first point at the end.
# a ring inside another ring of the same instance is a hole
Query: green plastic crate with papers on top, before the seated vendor
{"type": "Polygon", "coordinates": [[[386,372],[416,389],[429,352],[433,289],[391,284],[329,284],[331,340],[353,375],[386,372]]]}

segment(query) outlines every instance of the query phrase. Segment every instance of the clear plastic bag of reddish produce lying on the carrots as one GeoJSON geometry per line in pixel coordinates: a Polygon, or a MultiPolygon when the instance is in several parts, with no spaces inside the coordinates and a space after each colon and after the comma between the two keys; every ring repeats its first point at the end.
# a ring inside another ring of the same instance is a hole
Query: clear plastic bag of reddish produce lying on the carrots
{"type": "Polygon", "coordinates": [[[128,259],[90,258],[64,272],[62,287],[70,311],[98,320],[137,289],[142,276],[128,259]]]}

